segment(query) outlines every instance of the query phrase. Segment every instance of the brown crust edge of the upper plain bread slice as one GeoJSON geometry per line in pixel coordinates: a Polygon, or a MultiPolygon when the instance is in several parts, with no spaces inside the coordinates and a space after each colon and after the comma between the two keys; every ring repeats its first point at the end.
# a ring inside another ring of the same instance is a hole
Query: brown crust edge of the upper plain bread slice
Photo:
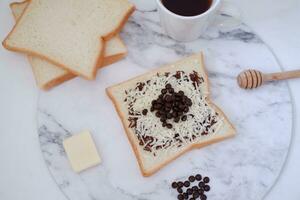
{"type": "MultiPolygon", "coordinates": [[[[31,4],[32,0],[27,0],[27,5],[23,11],[23,13],[21,14],[20,18],[21,19],[24,15],[24,13],[26,13],[29,5],[31,4]]],[[[20,3],[24,3],[24,2],[20,2],[20,3]]],[[[40,57],[44,60],[47,60],[48,62],[54,64],[54,65],[57,65],[63,69],[66,69],[68,71],[70,71],[71,73],[73,74],[76,74],[78,76],[81,76],[85,79],[88,79],[88,80],[94,80],[96,78],[96,73],[97,73],[97,66],[98,66],[98,63],[102,63],[103,62],[103,58],[104,58],[104,47],[105,47],[105,44],[104,44],[104,38],[106,40],[110,39],[111,37],[113,37],[114,35],[116,35],[121,29],[122,27],[125,25],[126,21],[128,20],[128,18],[130,17],[130,15],[134,12],[135,10],[135,7],[134,5],[131,6],[130,9],[127,10],[124,18],[122,21],[119,22],[119,25],[114,29],[112,30],[110,33],[108,33],[107,35],[105,36],[101,36],[99,37],[99,42],[100,42],[100,45],[101,45],[101,49],[100,49],[100,52],[99,52],[99,55],[97,56],[97,59],[95,61],[95,64],[94,64],[94,67],[93,67],[93,71],[92,71],[92,75],[91,76],[87,76],[85,74],[81,74],[80,72],[72,69],[71,67],[68,67],[66,65],[64,65],[63,63],[60,63],[56,60],[53,60],[51,58],[49,58],[48,56],[46,55],[43,55],[39,52],[36,52],[36,51],[33,51],[33,50],[29,50],[29,49],[23,49],[23,48],[17,48],[17,47],[11,47],[7,44],[7,40],[8,38],[10,37],[10,35],[14,32],[15,28],[17,27],[18,23],[20,20],[17,20],[15,25],[13,26],[12,30],[8,33],[8,35],[5,37],[4,41],[2,42],[2,46],[8,50],[11,50],[11,51],[16,51],[16,52],[22,52],[22,53],[25,53],[25,54],[28,54],[28,55],[31,55],[31,56],[36,56],[36,57],[40,57]]]]}

